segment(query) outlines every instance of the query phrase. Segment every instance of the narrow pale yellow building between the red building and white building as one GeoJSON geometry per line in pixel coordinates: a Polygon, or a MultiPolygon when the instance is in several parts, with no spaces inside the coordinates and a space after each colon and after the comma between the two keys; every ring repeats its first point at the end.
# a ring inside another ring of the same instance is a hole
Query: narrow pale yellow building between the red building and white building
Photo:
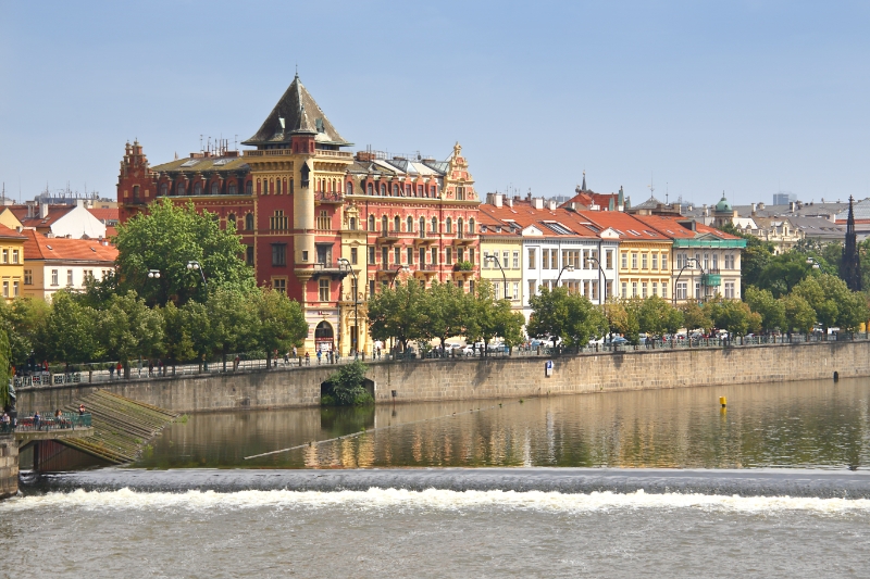
{"type": "Polygon", "coordinates": [[[508,298],[514,312],[523,311],[523,238],[496,216],[497,207],[480,210],[481,279],[493,284],[498,298],[508,298]]]}

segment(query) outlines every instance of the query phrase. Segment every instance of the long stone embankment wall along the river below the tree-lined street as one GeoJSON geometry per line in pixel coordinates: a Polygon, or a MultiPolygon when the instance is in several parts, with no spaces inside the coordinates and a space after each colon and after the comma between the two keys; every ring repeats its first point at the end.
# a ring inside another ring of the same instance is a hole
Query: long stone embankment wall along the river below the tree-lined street
{"type": "MultiPolygon", "coordinates": [[[[372,364],[377,402],[469,400],[870,376],[870,342],[639,350],[545,358],[457,358],[372,364]]],[[[177,412],[312,406],[335,366],[159,378],[78,387],[22,388],[18,408],[49,411],[102,388],[177,412]]]]}

